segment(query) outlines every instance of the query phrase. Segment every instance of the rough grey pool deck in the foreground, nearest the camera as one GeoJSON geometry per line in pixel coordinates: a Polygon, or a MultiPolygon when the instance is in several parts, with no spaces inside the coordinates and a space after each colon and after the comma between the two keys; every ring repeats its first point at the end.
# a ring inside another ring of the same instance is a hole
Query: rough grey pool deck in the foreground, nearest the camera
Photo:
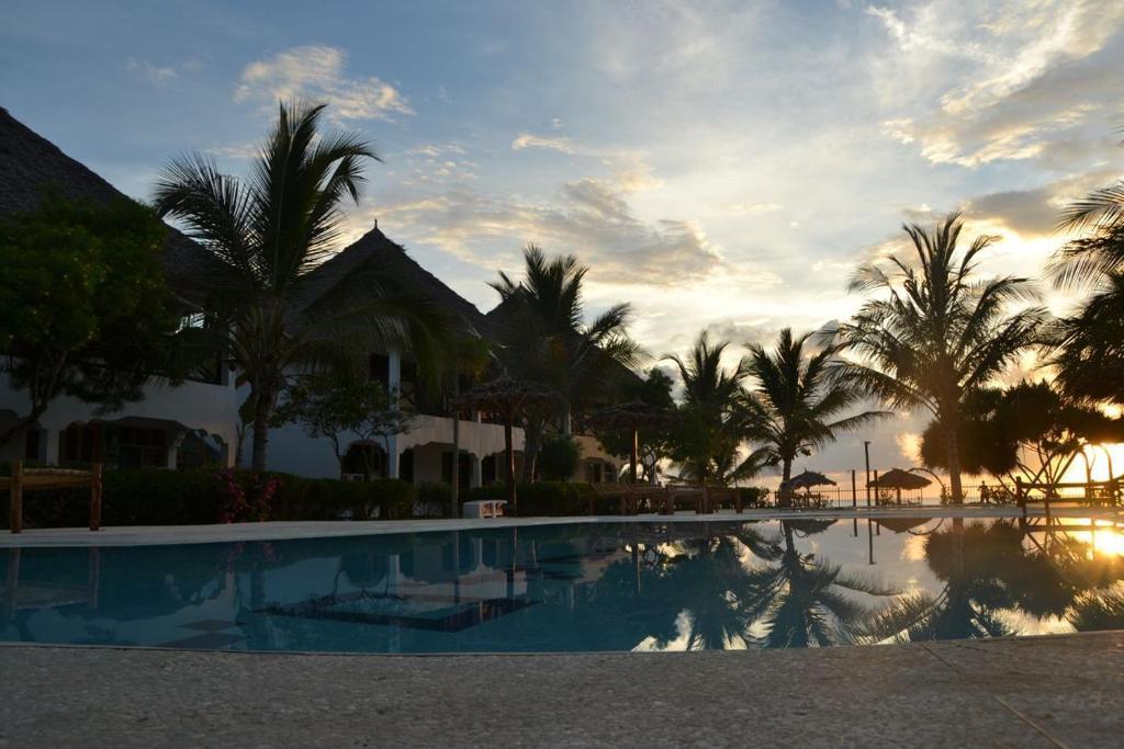
{"type": "Polygon", "coordinates": [[[1124,632],[486,656],[0,647],[0,747],[1098,747],[1124,632]]]}

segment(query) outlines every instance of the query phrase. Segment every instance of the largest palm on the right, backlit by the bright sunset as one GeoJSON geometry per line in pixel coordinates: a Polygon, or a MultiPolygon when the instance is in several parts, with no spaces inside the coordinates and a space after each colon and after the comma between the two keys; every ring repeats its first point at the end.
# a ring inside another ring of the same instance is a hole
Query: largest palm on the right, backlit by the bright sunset
{"type": "Polygon", "coordinates": [[[852,291],[873,292],[851,322],[839,326],[846,381],[892,408],[926,409],[945,435],[952,501],[963,501],[957,427],[964,398],[991,383],[1039,341],[1045,309],[1026,278],[977,278],[976,262],[994,237],[958,249],[963,222],[953,213],[932,234],[904,227],[916,257],[859,267],[852,291]]]}

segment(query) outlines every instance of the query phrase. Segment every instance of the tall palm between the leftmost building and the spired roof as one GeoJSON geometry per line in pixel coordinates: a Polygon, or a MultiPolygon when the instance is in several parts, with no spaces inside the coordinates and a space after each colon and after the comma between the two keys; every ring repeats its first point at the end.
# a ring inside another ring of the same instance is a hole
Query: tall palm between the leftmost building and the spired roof
{"type": "Polygon", "coordinates": [[[341,238],[341,204],[359,199],[363,165],[378,161],[355,135],[319,131],[324,106],[280,104],[277,124],[250,177],[218,171],[202,154],[176,158],[155,191],[156,210],[178,219],[215,261],[207,278],[211,331],[248,384],[253,467],[265,468],[270,418],[287,372],[344,356],[345,341],[414,344],[435,360],[443,328],[419,300],[390,294],[371,280],[366,301],[319,298],[300,309],[309,277],[341,238]]]}

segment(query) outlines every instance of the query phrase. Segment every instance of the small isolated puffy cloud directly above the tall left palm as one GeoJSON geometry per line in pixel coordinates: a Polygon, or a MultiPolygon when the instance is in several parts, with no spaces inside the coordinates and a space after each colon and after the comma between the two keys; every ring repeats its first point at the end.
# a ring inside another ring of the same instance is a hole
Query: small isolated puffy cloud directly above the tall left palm
{"type": "Polygon", "coordinates": [[[375,76],[350,79],[346,53],[338,47],[293,47],[242,71],[234,100],[273,106],[278,100],[307,98],[327,103],[337,120],[393,120],[414,115],[409,100],[375,76]]]}

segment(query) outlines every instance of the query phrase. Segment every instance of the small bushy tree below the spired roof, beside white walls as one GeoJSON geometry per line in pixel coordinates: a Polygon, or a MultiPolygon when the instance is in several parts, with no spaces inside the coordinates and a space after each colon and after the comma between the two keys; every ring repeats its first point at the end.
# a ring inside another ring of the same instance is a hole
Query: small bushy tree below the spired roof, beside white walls
{"type": "MultiPolygon", "coordinates": [[[[285,391],[285,400],[274,413],[273,423],[299,423],[309,437],[327,439],[343,475],[345,440],[350,436],[362,442],[381,440],[390,455],[390,439],[410,428],[413,418],[393,407],[387,386],[361,374],[337,371],[299,377],[285,391]]],[[[373,456],[363,451],[366,476],[377,471],[373,456]]]]}

